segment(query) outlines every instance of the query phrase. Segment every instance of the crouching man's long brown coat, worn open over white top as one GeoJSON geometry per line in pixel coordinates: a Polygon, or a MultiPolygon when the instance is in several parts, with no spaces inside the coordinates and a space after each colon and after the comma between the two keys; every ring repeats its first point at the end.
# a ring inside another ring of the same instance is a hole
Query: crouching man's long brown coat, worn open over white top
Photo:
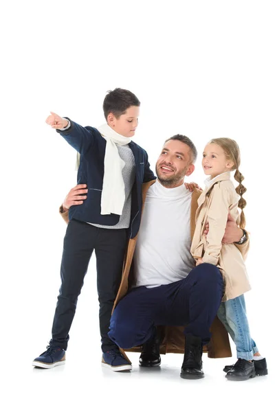
{"type": "MultiPolygon", "coordinates": [[[[144,201],[146,198],[146,193],[148,188],[155,183],[155,181],[151,181],[148,183],[143,183],[142,185],[142,201],[144,205],[144,201]]],[[[191,238],[195,231],[195,214],[197,210],[197,199],[201,192],[199,190],[195,190],[192,193],[192,201],[191,201],[191,216],[190,216],[190,231],[191,231],[191,238]]],[[[68,212],[63,212],[62,207],[60,208],[61,216],[64,218],[66,222],[69,221],[68,212]]],[[[137,236],[135,238],[130,239],[128,243],[128,247],[126,249],[125,260],[124,260],[124,268],[122,273],[122,279],[120,283],[120,288],[118,290],[118,295],[115,299],[115,303],[113,305],[113,309],[118,304],[120,299],[124,297],[127,293],[129,288],[129,284],[131,284],[131,264],[133,260],[133,253],[135,251],[135,244],[137,241],[137,236]]],[[[243,245],[239,247],[239,249],[243,249],[243,245]]],[[[172,353],[184,353],[184,334],[183,330],[184,327],[179,326],[162,326],[159,327],[162,330],[162,335],[164,339],[162,341],[162,345],[160,347],[161,354],[166,354],[169,352],[172,353]]],[[[203,352],[208,352],[208,357],[210,358],[228,358],[232,356],[230,343],[228,339],[228,332],[226,332],[225,328],[223,327],[221,321],[216,317],[214,322],[212,323],[211,327],[212,337],[210,343],[207,347],[203,347],[203,352]]],[[[141,347],[133,347],[131,350],[127,350],[127,352],[140,352],[141,347]]]]}

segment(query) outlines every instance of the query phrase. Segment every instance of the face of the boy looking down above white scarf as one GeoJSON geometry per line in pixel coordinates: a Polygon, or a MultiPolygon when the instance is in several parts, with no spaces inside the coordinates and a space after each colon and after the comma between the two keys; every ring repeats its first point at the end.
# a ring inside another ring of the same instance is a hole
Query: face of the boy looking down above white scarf
{"type": "Polygon", "coordinates": [[[139,115],[140,108],[138,106],[130,106],[124,115],[120,115],[118,118],[115,117],[113,113],[109,113],[107,123],[119,135],[133,137],[133,135],[135,135],[135,129],[137,128],[139,115]]]}

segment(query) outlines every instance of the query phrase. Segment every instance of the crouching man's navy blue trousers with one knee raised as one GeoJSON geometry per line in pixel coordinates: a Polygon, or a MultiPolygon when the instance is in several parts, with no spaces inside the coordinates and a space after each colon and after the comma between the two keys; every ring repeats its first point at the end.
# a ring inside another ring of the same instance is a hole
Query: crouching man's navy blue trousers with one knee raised
{"type": "Polygon", "coordinates": [[[113,311],[109,337],[130,349],[148,341],[156,325],[184,325],[184,334],[200,336],[205,345],[222,295],[221,273],[208,263],[196,266],[178,282],[133,288],[113,311]]]}

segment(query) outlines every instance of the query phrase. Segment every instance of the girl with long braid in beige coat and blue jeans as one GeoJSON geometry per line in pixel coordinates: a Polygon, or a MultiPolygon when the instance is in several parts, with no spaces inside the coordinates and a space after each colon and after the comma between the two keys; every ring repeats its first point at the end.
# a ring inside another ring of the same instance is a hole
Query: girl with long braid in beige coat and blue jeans
{"type": "Polygon", "coordinates": [[[196,265],[217,265],[223,275],[225,292],[217,315],[234,341],[238,357],[235,365],[223,369],[227,372],[226,378],[230,380],[246,380],[254,378],[256,374],[267,375],[265,358],[259,354],[256,343],[250,337],[243,296],[243,293],[250,290],[250,284],[243,256],[234,244],[221,243],[228,211],[243,229],[240,242],[247,238],[243,214],[246,201],[242,197],[246,189],[241,184],[244,178],[239,172],[240,163],[240,150],[236,141],[227,138],[212,139],[206,145],[202,166],[209,177],[198,200],[196,229],[191,245],[196,265]],[[230,180],[231,170],[236,170],[234,179],[239,183],[236,190],[230,180]],[[241,208],[241,216],[238,207],[241,208]],[[207,223],[209,231],[206,236],[203,232],[207,223]]]}

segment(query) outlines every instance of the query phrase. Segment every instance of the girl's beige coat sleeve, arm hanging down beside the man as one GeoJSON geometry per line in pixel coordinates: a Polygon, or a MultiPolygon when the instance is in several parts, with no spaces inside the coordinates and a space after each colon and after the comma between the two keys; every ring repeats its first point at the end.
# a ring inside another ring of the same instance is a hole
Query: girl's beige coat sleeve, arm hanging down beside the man
{"type": "Polygon", "coordinates": [[[228,211],[230,207],[230,193],[221,184],[213,186],[208,209],[209,231],[206,238],[206,249],[203,262],[218,264],[221,253],[221,240],[225,233],[228,211]]]}

